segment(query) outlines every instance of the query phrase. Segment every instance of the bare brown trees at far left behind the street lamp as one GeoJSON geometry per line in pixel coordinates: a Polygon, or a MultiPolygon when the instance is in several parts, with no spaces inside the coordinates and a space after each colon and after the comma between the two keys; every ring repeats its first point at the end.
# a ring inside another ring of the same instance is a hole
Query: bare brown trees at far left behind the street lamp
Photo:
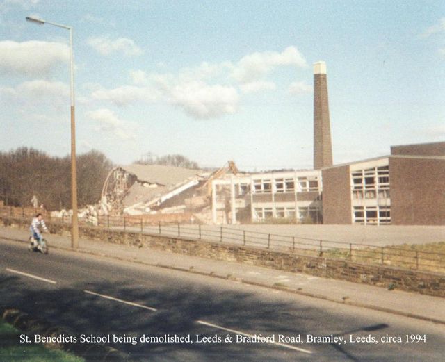
{"type": "MultiPolygon", "coordinates": [[[[0,199],[6,204],[31,206],[36,195],[47,210],[71,207],[71,158],[51,157],[20,147],[0,152],[0,199]]],[[[78,202],[83,207],[99,201],[102,185],[113,167],[99,151],[77,156],[78,202]]]]}

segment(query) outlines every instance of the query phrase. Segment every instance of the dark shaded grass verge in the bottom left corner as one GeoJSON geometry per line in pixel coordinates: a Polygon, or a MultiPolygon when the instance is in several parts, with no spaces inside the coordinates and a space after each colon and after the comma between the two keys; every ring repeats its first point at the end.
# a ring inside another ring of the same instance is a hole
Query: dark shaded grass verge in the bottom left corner
{"type": "Polygon", "coordinates": [[[81,357],[41,344],[19,343],[21,332],[0,320],[0,361],[8,362],[85,362],[81,357]]]}

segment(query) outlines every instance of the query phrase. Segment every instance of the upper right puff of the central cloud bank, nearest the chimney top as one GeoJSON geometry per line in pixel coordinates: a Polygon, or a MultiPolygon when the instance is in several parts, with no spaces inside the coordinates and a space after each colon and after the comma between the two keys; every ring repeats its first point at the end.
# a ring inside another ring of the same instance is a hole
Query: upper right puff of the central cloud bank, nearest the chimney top
{"type": "Polygon", "coordinates": [[[265,51],[241,58],[232,69],[232,77],[239,83],[251,83],[270,73],[275,67],[306,67],[305,58],[296,47],[287,47],[281,53],[265,51]]]}

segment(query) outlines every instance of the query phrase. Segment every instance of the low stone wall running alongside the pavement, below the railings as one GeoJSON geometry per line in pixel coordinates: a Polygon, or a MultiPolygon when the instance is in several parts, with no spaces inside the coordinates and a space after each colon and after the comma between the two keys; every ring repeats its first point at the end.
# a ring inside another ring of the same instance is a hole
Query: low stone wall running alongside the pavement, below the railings
{"type": "MultiPolygon", "coordinates": [[[[5,226],[28,228],[28,222],[9,217],[2,218],[5,226]]],[[[70,230],[67,224],[48,222],[51,233],[65,234],[70,230]]],[[[275,252],[268,249],[228,245],[202,240],[187,240],[168,236],[129,233],[107,230],[98,227],[79,227],[81,238],[102,240],[122,245],[143,246],[200,256],[219,261],[233,261],[265,268],[284,270],[286,272],[302,272],[317,277],[341,279],[355,283],[366,283],[388,288],[394,286],[398,290],[445,297],[445,274],[403,270],[385,265],[364,265],[345,260],[327,259],[323,257],[304,256],[295,253],[275,252]]]]}

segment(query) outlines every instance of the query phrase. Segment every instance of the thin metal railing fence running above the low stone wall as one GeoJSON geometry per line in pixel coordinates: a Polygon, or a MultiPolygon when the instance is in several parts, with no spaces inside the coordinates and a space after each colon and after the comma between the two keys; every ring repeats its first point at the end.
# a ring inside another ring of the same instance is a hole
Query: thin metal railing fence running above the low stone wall
{"type": "MultiPolygon", "coordinates": [[[[30,208],[0,206],[0,215],[3,216],[32,217],[34,213],[35,210],[30,208]]],[[[63,223],[70,223],[71,221],[69,215],[62,215],[62,217],[56,219],[54,217],[51,219],[49,213],[44,213],[44,215],[51,221],[63,223]]],[[[190,215],[183,218],[190,220],[190,215]]],[[[159,215],[157,215],[156,219],[159,219],[159,215]]],[[[375,245],[353,242],[338,242],[298,236],[284,236],[273,233],[260,233],[224,226],[184,224],[180,222],[168,223],[156,221],[156,219],[152,217],[152,215],[102,215],[94,217],[87,215],[86,217],[79,218],[79,224],[87,224],[105,229],[120,229],[153,235],[190,238],[193,240],[226,242],[233,245],[273,249],[281,252],[344,259],[357,263],[378,263],[380,265],[392,265],[398,268],[408,268],[412,270],[445,272],[445,254],[415,249],[416,246],[377,247],[375,245]]]]}

